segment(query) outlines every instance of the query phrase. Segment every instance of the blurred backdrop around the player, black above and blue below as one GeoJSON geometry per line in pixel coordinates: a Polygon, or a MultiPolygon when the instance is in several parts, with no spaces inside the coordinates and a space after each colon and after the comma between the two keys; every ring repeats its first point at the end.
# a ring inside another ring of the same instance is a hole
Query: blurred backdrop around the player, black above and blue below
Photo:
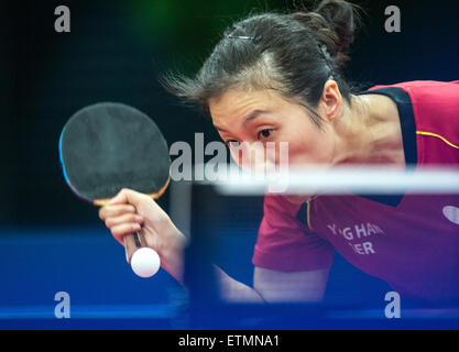
{"type": "MultiPolygon", "coordinates": [[[[175,141],[193,145],[196,132],[204,132],[206,142],[218,140],[211,123],[164,92],[156,76],[174,68],[193,74],[227,25],[252,10],[284,10],[292,2],[0,3],[0,327],[10,328],[11,316],[54,318],[53,298],[59,290],[72,295],[73,317],[147,315],[160,320],[138,327],[182,327],[161,320],[164,304],[175,307],[183,300],[175,280],[164,271],[149,280],[135,277],[97,209],[66,186],[58,160],[61,130],[81,107],[109,100],[146,112],[170,145],[175,141]],[[70,33],[54,31],[58,4],[70,9],[70,33]]],[[[346,70],[351,81],[363,89],[459,79],[457,1],[356,2],[367,15],[346,70]],[[384,30],[384,9],[391,4],[401,9],[401,33],[384,30]]],[[[168,194],[160,200],[166,210],[168,194]]],[[[261,205],[259,198],[221,206],[227,216],[221,222],[225,253],[219,264],[245,284],[251,284],[261,205]]],[[[338,254],[334,263],[326,300],[376,307],[382,315],[389,285],[338,254]]],[[[132,328],[130,323],[125,327],[132,328]]]]}

